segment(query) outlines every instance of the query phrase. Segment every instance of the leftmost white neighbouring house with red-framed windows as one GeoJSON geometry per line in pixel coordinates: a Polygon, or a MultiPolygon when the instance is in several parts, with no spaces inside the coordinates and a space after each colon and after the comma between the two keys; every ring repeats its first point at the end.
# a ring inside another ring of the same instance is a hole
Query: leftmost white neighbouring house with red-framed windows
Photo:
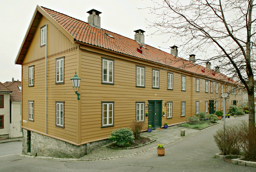
{"type": "Polygon", "coordinates": [[[9,138],[11,92],[0,82],[0,137],[9,138]]]}

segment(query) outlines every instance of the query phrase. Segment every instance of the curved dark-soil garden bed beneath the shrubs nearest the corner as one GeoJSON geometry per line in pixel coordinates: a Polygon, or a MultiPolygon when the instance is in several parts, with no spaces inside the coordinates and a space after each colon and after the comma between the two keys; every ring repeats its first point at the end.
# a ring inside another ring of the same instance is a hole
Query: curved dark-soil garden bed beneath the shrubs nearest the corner
{"type": "Polygon", "coordinates": [[[108,148],[111,149],[134,149],[134,148],[138,148],[144,145],[148,145],[152,142],[154,142],[156,140],[152,140],[146,137],[140,137],[139,139],[134,139],[134,143],[131,144],[129,147],[125,147],[125,146],[119,146],[116,143],[112,143],[111,145],[107,146],[108,148]]]}

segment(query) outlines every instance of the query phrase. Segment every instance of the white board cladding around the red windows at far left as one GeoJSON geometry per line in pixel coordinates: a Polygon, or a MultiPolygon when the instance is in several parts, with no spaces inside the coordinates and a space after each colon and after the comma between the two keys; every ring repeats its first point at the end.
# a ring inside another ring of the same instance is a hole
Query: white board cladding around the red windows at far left
{"type": "Polygon", "coordinates": [[[9,110],[10,110],[10,106],[9,106],[9,94],[10,93],[4,93],[4,92],[0,92],[1,95],[3,95],[4,99],[3,99],[3,103],[4,106],[3,108],[0,108],[0,116],[3,115],[3,120],[4,120],[4,126],[3,128],[0,128],[0,135],[3,134],[9,134],[9,110]]]}

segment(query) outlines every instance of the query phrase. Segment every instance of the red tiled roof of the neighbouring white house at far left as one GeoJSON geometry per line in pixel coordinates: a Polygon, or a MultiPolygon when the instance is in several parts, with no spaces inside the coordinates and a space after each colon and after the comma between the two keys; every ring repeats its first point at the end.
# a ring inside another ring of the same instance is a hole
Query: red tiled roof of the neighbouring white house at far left
{"type": "Polygon", "coordinates": [[[19,91],[18,86],[21,86],[21,81],[12,81],[3,83],[10,91],[12,91],[10,95],[11,101],[21,101],[21,91],[19,91]]]}

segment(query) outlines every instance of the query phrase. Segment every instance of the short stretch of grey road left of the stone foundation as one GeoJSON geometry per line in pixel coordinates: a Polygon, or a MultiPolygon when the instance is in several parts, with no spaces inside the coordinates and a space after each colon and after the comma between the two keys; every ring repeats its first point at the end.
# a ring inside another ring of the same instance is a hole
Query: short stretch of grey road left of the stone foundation
{"type": "Polygon", "coordinates": [[[16,154],[16,153],[20,153],[21,151],[22,151],[22,142],[7,142],[7,143],[0,144],[0,156],[16,154]]]}

